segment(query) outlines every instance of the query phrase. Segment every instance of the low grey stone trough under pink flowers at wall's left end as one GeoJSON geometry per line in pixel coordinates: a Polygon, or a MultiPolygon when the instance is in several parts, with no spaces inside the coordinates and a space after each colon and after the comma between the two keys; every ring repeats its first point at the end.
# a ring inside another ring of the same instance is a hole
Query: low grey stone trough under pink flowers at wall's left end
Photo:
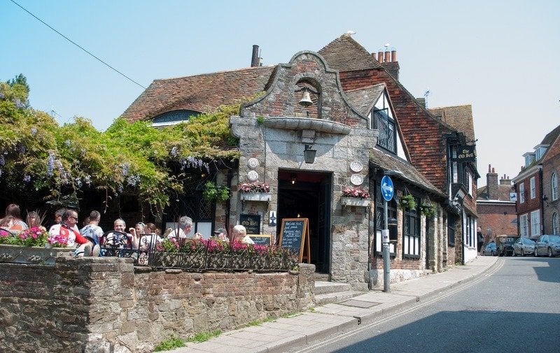
{"type": "Polygon", "coordinates": [[[0,244],[0,262],[54,265],[57,257],[69,256],[69,247],[30,247],[0,244]]]}

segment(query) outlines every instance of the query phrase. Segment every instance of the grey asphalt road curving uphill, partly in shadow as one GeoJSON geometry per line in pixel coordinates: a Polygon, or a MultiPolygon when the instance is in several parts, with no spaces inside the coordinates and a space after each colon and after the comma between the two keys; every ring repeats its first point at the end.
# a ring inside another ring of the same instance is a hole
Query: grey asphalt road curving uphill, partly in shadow
{"type": "Polygon", "coordinates": [[[560,352],[560,258],[500,258],[441,298],[293,352],[560,352]]]}

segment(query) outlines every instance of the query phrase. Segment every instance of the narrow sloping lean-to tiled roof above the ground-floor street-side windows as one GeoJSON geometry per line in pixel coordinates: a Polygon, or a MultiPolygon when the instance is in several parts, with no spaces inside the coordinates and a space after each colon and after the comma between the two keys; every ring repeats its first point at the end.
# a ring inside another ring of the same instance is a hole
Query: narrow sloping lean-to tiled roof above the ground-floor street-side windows
{"type": "Polygon", "coordinates": [[[445,197],[443,192],[437,189],[437,187],[435,187],[428,179],[426,179],[426,177],[417,171],[412,164],[409,164],[404,159],[393,157],[391,154],[382,152],[377,148],[374,148],[370,152],[370,156],[370,164],[373,167],[377,166],[386,171],[394,170],[402,172],[402,175],[398,175],[393,178],[400,178],[437,196],[445,197]]]}

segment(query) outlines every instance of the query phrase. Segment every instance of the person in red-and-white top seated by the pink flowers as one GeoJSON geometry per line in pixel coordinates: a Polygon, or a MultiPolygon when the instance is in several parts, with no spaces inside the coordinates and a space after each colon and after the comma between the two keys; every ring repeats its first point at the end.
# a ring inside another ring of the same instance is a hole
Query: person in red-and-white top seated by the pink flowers
{"type": "Polygon", "coordinates": [[[91,256],[93,244],[80,234],[76,223],[78,223],[78,212],[66,210],[62,215],[62,222],[51,226],[48,235],[59,236],[66,243],[66,247],[76,248],[73,252],[76,257],[91,256]]]}

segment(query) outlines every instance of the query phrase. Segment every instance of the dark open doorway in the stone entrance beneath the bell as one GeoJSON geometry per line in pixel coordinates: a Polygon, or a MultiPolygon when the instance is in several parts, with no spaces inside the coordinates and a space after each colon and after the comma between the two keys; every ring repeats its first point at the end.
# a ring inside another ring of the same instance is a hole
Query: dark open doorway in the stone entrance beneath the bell
{"type": "Polygon", "coordinates": [[[283,218],[309,219],[311,264],[317,273],[330,272],[331,174],[279,170],[278,227],[283,218]]]}

